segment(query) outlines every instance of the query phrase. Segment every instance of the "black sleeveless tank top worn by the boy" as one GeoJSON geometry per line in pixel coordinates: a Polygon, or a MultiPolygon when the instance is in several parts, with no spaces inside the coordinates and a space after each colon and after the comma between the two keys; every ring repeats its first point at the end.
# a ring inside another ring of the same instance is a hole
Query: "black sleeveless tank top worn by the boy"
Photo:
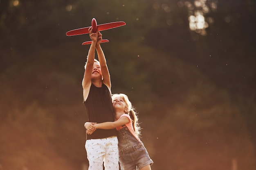
{"type": "MultiPolygon", "coordinates": [[[[105,84],[102,84],[102,87],[96,87],[92,84],[88,98],[83,103],[89,122],[114,122],[112,99],[105,84]]],[[[116,129],[97,129],[92,135],[86,135],[86,139],[101,139],[116,135],[116,129]]]]}

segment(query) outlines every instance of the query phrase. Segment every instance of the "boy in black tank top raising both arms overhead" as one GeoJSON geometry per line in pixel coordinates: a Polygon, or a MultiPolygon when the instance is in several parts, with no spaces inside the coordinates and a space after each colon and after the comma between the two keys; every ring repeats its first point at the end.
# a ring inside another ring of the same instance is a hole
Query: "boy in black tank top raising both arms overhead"
{"type": "MultiPolygon", "coordinates": [[[[111,99],[110,74],[106,58],[100,43],[102,34],[99,30],[93,33],[89,28],[92,44],[85,64],[85,73],[82,81],[83,103],[89,122],[114,122],[111,99]],[[94,59],[95,49],[99,61],[94,59]]],[[[118,139],[115,129],[100,129],[92,135],[86,135],[85,149],[89,161],[89,170],[119,170],[118,139]]]]}

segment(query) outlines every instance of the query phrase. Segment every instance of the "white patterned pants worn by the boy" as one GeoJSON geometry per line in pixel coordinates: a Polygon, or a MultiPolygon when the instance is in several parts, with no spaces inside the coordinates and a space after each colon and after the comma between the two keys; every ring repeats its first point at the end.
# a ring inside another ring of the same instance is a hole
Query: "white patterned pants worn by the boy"
{"type": "Polygon", "coordinates": [[[119,170],[116,136],[86,140],[85,149],[89,161],[88,170],[103,170],[103,162],[105,170],[119,170]]]}

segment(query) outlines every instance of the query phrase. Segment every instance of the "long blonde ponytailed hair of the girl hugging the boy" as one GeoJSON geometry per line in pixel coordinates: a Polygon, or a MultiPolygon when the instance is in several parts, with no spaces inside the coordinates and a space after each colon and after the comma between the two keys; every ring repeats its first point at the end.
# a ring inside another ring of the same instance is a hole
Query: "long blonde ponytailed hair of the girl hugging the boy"
{"type": "Polygon", "coordinates": [[[132,106],[132,103],[130,102],[126,94],[122,94],[122,93],[112,94],[112,100],[117,97],[121,97],[124,99],[125,105],[128,108],[128,112],[126,114],[128,114],[132,119],[132,126],[133,126],[133,130],[135,131],[135,134],[137,135],[137,137],[140,137],[141,127],[139,126],[139,123],[138,123],[138,116],[137,116],[138,113],[136,113],[135,108],[132,106]]]}

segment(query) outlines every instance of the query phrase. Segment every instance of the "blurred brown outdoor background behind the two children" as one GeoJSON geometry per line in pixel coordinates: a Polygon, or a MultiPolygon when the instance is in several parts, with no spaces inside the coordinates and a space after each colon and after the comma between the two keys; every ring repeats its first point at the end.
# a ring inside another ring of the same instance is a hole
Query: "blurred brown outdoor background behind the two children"
{"type": "Polygon", "coordinates": [[[152,170],[256,170],[253,0],[0,0],[0,170],[87,170],[81,81],[102,31],[152,170]]]}

